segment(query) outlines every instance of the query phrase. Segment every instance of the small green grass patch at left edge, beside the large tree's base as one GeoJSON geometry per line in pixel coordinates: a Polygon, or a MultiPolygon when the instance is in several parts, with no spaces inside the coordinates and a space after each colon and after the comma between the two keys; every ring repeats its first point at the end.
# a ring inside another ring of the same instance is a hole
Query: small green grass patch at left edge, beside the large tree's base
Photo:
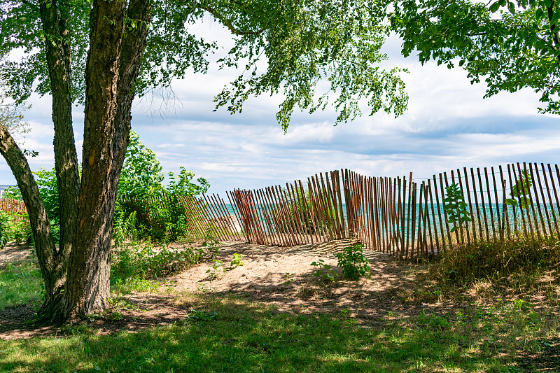
{"type": "Polygon", "coordinates": [[[0,270],[0,309],[41,300],[43,278],[31,261],[8,264],[0,270]]]}

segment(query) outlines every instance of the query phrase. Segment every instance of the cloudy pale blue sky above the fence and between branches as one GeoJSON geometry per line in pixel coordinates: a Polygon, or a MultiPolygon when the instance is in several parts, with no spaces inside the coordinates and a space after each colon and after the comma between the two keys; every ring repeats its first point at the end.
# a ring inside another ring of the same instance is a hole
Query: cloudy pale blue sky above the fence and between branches
{"type": "MultiPolygon", "coordinates": [[[[205,20],[197,32],[228,45],[220,24],[205,20]]],[[[237,77],[235,70],[186,73],[172,85],[175,99],[147,96],[135,101],[132,129],[151,148],[164,169],[181,166],[207,178],[211,188],[225,190],[285,185],[333,169],[351,169],[368,176],[414,178],[458,167],[489,167],[508,162],[557,163],[560,117],[538,113],[538,94],[531,90],[501,92],[483,99],[486,86],[471,85],[462,69],[435,63],[421,65],[414,55],[400,55],[401,41],[391,37],[384,46],[386,69],[403,74],[409,95],[400,118],[386,113],[363,115],[334,125],[332,109],[312,115],[295,112],[288,132],[276,122],[281,97],[248,99],[242,113],[214,111],[212,99],[237,77]]],[[[25,118],[31,125],[22,146],[39,152],[32,170],[54,166],[50,97],[32,96],[25,118]]],[[[83,107],[73,111],[78,152],[82,146],[83,107]]],[[[15,184],[5,161],[0,184],[15,184]]]]}

